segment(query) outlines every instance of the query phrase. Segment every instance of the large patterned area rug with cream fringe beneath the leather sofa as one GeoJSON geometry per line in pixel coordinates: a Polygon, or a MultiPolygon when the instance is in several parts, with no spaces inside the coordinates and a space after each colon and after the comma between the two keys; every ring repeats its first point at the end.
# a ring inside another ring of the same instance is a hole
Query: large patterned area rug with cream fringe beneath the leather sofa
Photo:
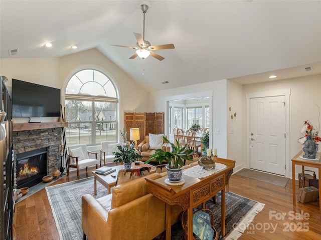
{"type": "MultiPolygon", "coordinates": [[[[81,240],[81,196],[89,193],[94,195],[93,177],[47,186],[46,191],[54,215],[56,226],[61,240],[81,240]]],[[[96,198],[107,194],[107,189],[97,182],[96,198]]],[[[217,194],[217,203],[212,200],[206,202],[215,216],[215,228],[218,239],[237,239],[244,226],[254,219],[255,215],[264,207],[263,203],[256,202],[232,192],[226,192],[226,236],[221,235],[221,195],[217,194]],[[238,227],[241,226],[241,227],[238,227]]],[[[154,240],[165,239],[165,234],[159,234],[154,240]]],[[[181,222],[172,226],[172,239],[183,239],[181,222]]]]}

